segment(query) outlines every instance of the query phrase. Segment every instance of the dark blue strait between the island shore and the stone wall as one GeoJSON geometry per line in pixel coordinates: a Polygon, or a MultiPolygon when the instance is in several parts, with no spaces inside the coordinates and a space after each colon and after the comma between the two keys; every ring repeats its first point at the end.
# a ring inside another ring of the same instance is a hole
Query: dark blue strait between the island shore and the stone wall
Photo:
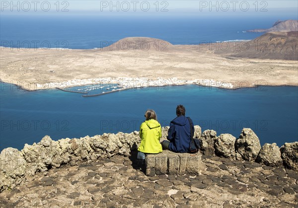
{"type": "MultiPolygon", "coordinates": [[[[251,128],[261,144],[279,146],[298,138],[298,87],[259,86],[235,90],[198,85],[129,89],[96,97],[56,89],[26,91],[1,83],[0,149],[25,143],[139,131],[147,109],[162,126],[175,118],[178,104],[195,125],[236,138],[251,128]]],[[[88,86],[87,86],[88,87],[88,86]]],[[[74,87],[70,89],[86,88],[74,87]]]]}

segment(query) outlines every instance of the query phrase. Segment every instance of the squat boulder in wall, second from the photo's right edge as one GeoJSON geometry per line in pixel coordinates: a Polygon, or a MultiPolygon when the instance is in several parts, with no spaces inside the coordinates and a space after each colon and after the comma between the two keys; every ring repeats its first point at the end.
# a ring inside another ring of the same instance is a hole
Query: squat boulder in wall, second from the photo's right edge
{"type": "Polygon", "coordinates": [[[276,143],[265,143],[257,156],[256,162],[273,167],[282,166],[283,160],[280,148],[276,143]]]}

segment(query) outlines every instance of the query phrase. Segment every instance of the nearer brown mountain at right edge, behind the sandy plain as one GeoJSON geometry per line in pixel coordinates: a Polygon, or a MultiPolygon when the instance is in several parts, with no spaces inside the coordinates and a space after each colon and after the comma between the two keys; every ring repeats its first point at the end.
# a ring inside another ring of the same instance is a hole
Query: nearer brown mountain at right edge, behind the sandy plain
{"type": "Polygon", "coordinates": [[[218,51],[231,57],[254,59],[298,60],[298,31],[269,32],[254,40],[230,43],[228,51],[218,51]]]}

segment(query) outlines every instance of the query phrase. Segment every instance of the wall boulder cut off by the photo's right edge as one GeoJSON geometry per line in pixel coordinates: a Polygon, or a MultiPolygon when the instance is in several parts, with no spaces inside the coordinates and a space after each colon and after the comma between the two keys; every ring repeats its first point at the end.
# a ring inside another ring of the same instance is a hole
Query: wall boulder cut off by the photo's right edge
{"type": "Polygon", "coordinates": [[[298,171],[298,141],[285,143],[280,150],[284,165],[289,169],[298,171]]]}

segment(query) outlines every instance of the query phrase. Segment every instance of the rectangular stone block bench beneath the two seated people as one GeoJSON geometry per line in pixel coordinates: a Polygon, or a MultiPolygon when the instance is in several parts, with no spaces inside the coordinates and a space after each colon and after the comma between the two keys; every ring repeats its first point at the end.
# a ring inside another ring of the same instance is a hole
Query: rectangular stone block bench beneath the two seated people
{"type": "Polygon", "coordinates": [[[161,174],[200,174],[202,155],[190,153],[175,153],[163,150],[158,154],[146,155],[146,175],[161,174]]]}

